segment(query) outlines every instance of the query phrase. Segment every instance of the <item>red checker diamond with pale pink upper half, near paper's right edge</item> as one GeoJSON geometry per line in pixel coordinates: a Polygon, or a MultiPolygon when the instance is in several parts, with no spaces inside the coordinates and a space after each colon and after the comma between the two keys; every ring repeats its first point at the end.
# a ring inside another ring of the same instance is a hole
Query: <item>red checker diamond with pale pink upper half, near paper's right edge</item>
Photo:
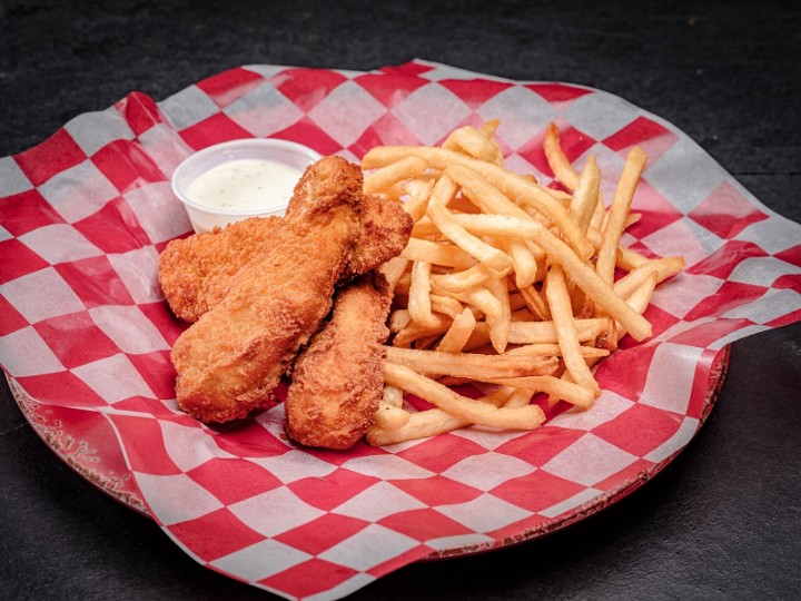
{"type": "Polygon", "coordinates": [[[728,181],[718,186],[689,217],[721,238],[733,238],[751,224],[768,218],[728,181]]]}

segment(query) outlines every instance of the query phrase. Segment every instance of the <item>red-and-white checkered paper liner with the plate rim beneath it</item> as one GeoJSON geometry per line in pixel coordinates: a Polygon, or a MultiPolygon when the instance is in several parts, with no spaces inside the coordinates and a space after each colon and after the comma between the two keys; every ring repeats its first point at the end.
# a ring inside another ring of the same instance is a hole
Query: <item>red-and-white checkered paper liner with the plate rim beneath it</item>
{"type": "Polygon", "coordinates": [[[0,159],[0,363],[48,443],[140,502],[198,562],[286,598],[337,599],[422,558],[497,548],[590,514],[655,474],[700,427],[728,343],[801,318],[801,226],[772,213],[664,120],[609,93],[413,61],[372,72],[247,66],[161,101],[134,92],[0,159]],[[185,327],[156,259],[189,233],[169,176],[243,137],[357,160],[500,118],[506,165],[551,180],[555,121],[613,196],[649,154],[624,240],[684,255],[646,317],[603,362],[585,413],[532,433],[469,428],[345,453],[298,449],[277,404],[236,428],[177,410],[169,349],[185,327]],[[656,366],[652,368],[652,366],[656,366]]]}

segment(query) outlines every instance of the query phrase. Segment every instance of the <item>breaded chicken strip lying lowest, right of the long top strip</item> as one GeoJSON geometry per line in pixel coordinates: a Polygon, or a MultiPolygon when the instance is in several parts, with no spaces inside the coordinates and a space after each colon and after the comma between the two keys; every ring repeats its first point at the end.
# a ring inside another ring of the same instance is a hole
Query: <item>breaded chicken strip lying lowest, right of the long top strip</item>
{"type": "Polygon", "coordinates": [[[378,272],[342,288],[330,321],[295,361],[284,404],[300,444],[345,450],[367,431],[384,390],[382,344],[392,292],[378,272]]]}

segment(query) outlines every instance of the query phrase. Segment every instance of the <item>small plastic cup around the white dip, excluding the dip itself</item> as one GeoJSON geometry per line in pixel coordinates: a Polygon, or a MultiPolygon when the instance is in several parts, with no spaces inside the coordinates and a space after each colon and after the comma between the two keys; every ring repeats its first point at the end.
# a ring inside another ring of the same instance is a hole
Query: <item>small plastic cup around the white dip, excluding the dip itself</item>
{"type": "Polygon", "coordinates": [[[192,228],[198,234],[210,231],[215,227],[225,227],[248,217],[281,216],[286,211],[286,203],[265,209],[227,210],[196,203],[187,195],[187,190],[201,174],[225,161],[275,160],[304,171],[319,158],[320,156],[310,148],[287,140],[247,138],[217,144],[190,155],[178,165],[172,173],[172,193],[184,203],[192,228]]]}

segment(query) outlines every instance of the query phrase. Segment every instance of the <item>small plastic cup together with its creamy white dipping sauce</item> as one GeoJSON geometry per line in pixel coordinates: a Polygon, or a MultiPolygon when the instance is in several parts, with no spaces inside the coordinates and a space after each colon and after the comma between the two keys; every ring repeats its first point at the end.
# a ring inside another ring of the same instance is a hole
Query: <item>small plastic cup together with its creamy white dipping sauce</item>
{"type": "Polygon", "coordinates": [[[300,144],[248,138],[204,148],[172,174],[195,231],[284,215],[304,169],[320,156],[300,144]]]}

